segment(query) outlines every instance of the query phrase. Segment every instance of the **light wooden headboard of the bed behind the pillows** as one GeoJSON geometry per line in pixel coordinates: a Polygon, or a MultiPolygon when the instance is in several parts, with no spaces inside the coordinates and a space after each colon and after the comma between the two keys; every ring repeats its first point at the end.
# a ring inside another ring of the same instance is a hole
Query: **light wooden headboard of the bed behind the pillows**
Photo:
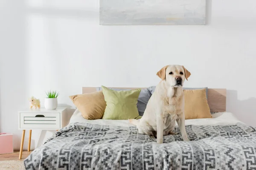
{"type": "MultiPolygon", "coordinates": [[[[118,89],[136,89],[136,88],[118,88],[118,89]]],[[[83,87],[82,93],[96,92],[95,87],[83,87]]],[[[211,112],[226,111],[226,93],[225,88],[208,88],[208,105],[211,112]]]]}

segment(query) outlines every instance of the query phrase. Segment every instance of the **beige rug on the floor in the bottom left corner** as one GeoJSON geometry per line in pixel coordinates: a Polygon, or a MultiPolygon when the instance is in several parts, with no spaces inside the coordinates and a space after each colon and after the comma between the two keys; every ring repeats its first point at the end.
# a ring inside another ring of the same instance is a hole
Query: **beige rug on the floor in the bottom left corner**
{"type": "Polygon", "coordinates": [[[25,170],[23,160],[0,161],[0,170],[25,170]]]}

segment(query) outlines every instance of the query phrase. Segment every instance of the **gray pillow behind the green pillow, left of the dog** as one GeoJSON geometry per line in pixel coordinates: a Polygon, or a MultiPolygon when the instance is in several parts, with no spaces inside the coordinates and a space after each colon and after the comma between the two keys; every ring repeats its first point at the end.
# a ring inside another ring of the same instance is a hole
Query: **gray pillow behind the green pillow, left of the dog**
{"type": "MultiPolygon", "coordinates": [[[[109,89],[115,90],[115,91],[129,91],[129,90],[132,90],[132,89],[117,89],[117,88],[109,88],[109,89]]],[[[102,91],[102,88],[97,87],[96,90],[97,91],[102,91]]],[[[144,111],[146,109],[146,106],[148,104],[148,100],[150,99],[151,95],[152,95],[151,92],[147,88],[141,89],[140,95],[139,95],[139,98],[138,98],[138,102],[137,102],[137,108],[138,108],[140,116],[143,116],[144,111]]]]}

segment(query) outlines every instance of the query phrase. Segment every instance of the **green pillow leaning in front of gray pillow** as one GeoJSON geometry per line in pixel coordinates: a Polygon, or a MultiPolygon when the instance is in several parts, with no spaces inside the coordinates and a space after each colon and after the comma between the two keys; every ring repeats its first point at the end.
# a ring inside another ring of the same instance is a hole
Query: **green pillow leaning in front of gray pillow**
{"type": "Polygon", "coordinates": [[[102,119],[140,119],[137,108],[140,91],[141,89],[114,91],[102,85],[102,92],[107,103],[102,119]]]}

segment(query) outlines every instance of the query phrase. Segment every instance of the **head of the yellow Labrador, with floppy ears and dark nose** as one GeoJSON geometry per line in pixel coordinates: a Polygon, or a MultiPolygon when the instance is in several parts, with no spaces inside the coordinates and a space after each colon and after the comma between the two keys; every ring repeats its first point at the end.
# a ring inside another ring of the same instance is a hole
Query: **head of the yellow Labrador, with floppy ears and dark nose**
{"type": "Polygon", "coordinates": [[[157,72],[157,76],[172,87],[182,87],[185,78],[188,80],[190,75],[183,65],[166,65],[157,72]]]}

